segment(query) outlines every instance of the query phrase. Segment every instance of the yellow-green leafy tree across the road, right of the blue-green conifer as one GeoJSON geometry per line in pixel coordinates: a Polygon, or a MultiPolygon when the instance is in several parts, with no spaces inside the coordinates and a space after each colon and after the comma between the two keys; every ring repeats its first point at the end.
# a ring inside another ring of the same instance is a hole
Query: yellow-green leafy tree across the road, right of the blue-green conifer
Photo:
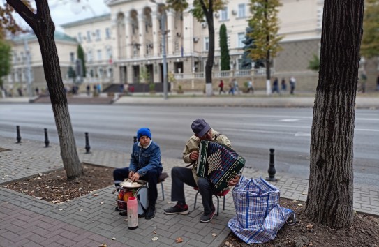
{"type": "Polygon", "coordinates": [[[251,19],[248,26],[253,29],[248,34],[254,40],[254,45],[249,50],[253,60],[265,59],[266,77],[270,79],[270,62],[272,57],[282,50],[279,41],[283,38],[278,36],[278,7],[279,0],[250,0],[251,19]]]}

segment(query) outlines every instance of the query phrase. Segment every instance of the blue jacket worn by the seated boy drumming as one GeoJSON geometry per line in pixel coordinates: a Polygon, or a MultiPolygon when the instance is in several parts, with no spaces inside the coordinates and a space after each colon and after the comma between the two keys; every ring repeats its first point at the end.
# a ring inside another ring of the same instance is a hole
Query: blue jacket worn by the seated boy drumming
{"type": "Polygon", "coordinates": [[[158,144],[151,141],[150,146],[144,149],[138,145],[139,143],[140,142],[135,142],[135,144],[133,144],[129,171],[137,172],[140,174],[140,177],[146,175],[147,171],[151,169],[162,171],[161,149],[158,144]]]}

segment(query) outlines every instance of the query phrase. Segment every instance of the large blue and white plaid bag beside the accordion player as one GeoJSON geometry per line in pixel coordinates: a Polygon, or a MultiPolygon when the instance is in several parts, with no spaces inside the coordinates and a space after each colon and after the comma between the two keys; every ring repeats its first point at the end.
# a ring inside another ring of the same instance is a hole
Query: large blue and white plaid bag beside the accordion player
{"type": "Polygon", "coordinates": [[[237,215],[229,220],[228,227],[246,244],[275,239],[291,216],[295,223],[295,212],[279,206],[278,188],[265,179],[241,177],[232,196],[237,215]]]}

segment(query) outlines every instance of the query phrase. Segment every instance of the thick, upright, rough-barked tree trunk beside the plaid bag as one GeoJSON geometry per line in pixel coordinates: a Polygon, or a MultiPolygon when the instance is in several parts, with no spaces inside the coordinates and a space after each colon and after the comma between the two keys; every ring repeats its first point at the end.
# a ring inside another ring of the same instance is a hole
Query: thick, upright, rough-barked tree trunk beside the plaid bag
{"type": "Polygon", "coordinates": [[[305,213],[329,227],[353,220],[352,147],[364,0],[325,0],[305,213]]]}

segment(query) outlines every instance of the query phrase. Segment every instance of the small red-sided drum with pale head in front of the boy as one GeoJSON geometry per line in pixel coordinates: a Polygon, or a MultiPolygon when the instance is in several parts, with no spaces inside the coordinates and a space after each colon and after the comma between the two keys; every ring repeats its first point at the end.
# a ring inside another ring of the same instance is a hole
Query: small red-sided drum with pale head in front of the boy
{"type": "Polygon", "coordinates": [[[144,214],[149,206],[146,183],[124,181],[120,184],[119,194],[116,197],[116,203],[119,211],[126,212],[128,210],[128,197],[137,198],[138,214],[144,214]]]}

